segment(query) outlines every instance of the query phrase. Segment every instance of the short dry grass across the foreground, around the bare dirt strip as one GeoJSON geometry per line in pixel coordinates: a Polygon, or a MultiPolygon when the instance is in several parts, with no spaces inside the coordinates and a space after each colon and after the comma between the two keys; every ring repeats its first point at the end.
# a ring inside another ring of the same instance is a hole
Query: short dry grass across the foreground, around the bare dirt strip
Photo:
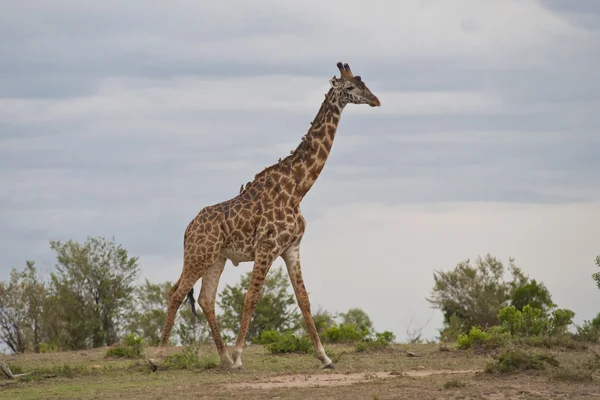
{"type": "MultiPolygon", "coordinates": [[[[250,345],[244,350],[244,369],[231,373],[220,368],[214,346],[169,348],[167,357],[156,373],[150,372],[143,359],[106,358],[104,349],[85,352],[24,354],[2,356],[13,371],[30,373],[17,381],[0,378],[0,399],[64,399],[64,398],[127,398],[127,399],[244,399],[263,398],[344,398],[358,399],[439,399],[442,392],[452,390],[453,396],[482,398],[489,393],[518,396],[523,390],[552,393],[560,390],[570,398],[590,393],[600,380],[599,369],[590,352],[554,352],[559,367],[546,368],[539,374],[513,374],[506,380],[503,374],[460,374],[449,379],[445,375],[406,378],[402,372],[426,370],[482,370],[489,357],[461,351],[440,351],[437,344],[390,345],[390,352],[357,352],[351,345],[329,345],[327,353],[336,362],[335,371],[323,371],[312,354],[270,354],[265,346],[250,345]],[[406,357],[401,351],[414,351],[422,357],[406,357]],[[343,355],[343,357],[342,357],[343,355]],[[319,374],[360,373],[374,376],[376,372],[395,374],[385,379],[371,379],[360,384],[336,387],[275,387],[272,389],[226,389],[236,382],[281,380],[289,374],[303,376],[319,374]],[[587,372],[586,372],[587,371],[587,372]],[[591,376],[592,380],[589,380],[591,376]]],[[[154,348],[144,348],[145,356],[154,348]]],[[[531,354],[531,351],[525,351],[531,354]]],[[[514,359],[514,357],[513,357],[514,359]]],[[[547,360],[534,358],[548,364],[547,360]]],[[[536,365],[536,362],[533,362],[536,365]]],[[[549,365],[549,364],[548,364],[549,365]]],[[[521,366],[517,371],[523,371],[521,366]]]]}

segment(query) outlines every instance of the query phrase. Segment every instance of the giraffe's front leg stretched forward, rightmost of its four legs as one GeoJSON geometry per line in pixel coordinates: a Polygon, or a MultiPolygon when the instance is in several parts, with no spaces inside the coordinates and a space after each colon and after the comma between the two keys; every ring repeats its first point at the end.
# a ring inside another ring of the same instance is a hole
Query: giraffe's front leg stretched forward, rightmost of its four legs
{"type": "Polygon", "coordinates": [[[302,315],[304,316],[304,321],[306,322],[306,327],[308,329],[308,334],[315,348],[315,355],[323,364],[323,368],[333,369],[335,368],[335,365],[325,353],[325,349],[321,344],[321,339],[319,338],[319,334],[317,332],[317,327],[315,326],[315,321],[313,320],[310,312],[310,300],[308,298],[306,287],[304,286],[302,270],[300,268],[300,244],[297,243],[296,245],[293,245],[287,249],[281,255],[281,257],[285,261],[285,266],[288,270],[290,281],[292,282],[292,287],[294,288],[294,293],[296,294],[298,306],[300,307],[300,311],[302,311],[302,315]]]}

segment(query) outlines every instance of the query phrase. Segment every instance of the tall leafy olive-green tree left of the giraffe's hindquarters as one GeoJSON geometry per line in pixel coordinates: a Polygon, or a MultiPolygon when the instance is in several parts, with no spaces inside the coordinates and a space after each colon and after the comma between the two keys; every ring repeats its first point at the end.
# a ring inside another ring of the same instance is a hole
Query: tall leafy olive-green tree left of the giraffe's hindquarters
{"type": "Polygon", "coordinates": [[[118,340],[132,285],[137,257],[114,240],[88,237],[80,244],[51,241],[56,272],[51,274],[52,301],[61,345],[79,349],[112,345],[118,340]]]}

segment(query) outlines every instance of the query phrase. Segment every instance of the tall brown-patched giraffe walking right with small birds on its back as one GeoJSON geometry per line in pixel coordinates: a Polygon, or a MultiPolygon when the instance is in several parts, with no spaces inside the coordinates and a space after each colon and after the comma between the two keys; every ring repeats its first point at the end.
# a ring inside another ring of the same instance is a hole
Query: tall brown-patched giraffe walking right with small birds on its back
{"type": "Polygon", "coordinates": [[[325,166],[344,107],[349,103],[381,105],[361,77],[353,75],[348,64],[338,62],[337,67],[340,78],[334,75],[329,80],[331,88],[298,147],[283,160],[280,158],[256,174],[252,182],[242,185],[236,197],[200,210],[187,226],[183,239],[183,270],[169,292],[167,318],[156,358],[164,357],[177,310],[186,294],[195,312],[193,286],[202,278],[198,303],[206,316],[221,363],[232,369],[242,368],[242,351],[260,290],[269,268],[281,257],[315,355],[323,368],[334,368],[317,334],[302,278],[300,242],[306,220],[300,212],[300,202],[325,166]],[[217,286],[227,260],[234,266],[254,262],[233,359],[221,338],[215,315],[217,286]]]}

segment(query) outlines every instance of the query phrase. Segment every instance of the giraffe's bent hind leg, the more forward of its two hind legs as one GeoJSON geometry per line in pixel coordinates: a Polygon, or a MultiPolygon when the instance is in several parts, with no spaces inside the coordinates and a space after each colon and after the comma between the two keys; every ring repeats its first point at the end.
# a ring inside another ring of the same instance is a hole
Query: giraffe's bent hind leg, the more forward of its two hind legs
{"type": "Polygon", "coordinates": [[[227,347],[221,337],[217,316],[215,315],[217,287],[219,286],[219,279],[225,268],[226,261],[227,259],[219,257],[202,277],[202,287],[200,289],[200,295],[198,296],[198,304],[200,304],[200,307],[202,307],[202,311],[206,316],[206,321],[210,327],[210,332],[215,346],[217,347],[217,352],[219,353],[219,357],[221,357],[221,365],[229,367],[233,365],[233,361],[231,360],[231,357],[227,352],[227,347]]]}

